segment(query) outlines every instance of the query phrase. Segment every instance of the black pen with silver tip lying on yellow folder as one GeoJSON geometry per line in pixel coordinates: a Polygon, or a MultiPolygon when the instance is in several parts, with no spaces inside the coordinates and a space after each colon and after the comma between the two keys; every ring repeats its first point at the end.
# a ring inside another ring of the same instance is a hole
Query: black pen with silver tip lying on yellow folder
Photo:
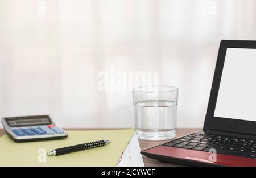
{"type": "Polygon", "coordinates": [[[58,156],[58,155],[69,154],[71,152],[88,150],[90,148],[103,147],[109,143],[110,143],[110,140],[98,140],[96,142],[77,144],[77,145],[70,146],[70,147],[64,147],[64,148],[58,148],[55,150],[51,150],[51,151],[47,152],[47,156],[58,156]]]}

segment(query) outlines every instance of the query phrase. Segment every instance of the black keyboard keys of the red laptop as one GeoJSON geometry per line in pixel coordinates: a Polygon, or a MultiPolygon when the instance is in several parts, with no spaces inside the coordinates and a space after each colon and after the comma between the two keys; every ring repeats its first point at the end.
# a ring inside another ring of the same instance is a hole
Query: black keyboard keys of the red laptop
{"type": "Polygon", "coordinates": [[[256,140],[195,133],[164,145],[207,152],[214,148],[218,154],[256,159],[256,140]]]}

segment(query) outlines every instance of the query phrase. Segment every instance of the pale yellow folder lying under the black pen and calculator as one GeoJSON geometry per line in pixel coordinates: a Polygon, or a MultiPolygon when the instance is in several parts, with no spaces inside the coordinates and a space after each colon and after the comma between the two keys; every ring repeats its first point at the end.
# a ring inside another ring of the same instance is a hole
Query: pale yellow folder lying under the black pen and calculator
{"type": "Polygon", "coordinates": [[[0,137],[0,166],[115,166],[133,132],[134,129],[69,130],[65,139],[24,143],[16,143],[3,135],[0,137]],[[52,149],[102,139],[111,143],[66,155],[46,156],[52,149]]]}

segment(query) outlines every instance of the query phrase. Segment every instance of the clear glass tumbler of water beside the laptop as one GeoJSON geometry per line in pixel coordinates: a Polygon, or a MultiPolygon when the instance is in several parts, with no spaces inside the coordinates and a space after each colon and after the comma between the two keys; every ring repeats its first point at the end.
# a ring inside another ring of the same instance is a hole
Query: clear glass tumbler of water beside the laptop
{"type": "Polygon", "coordinates": [[[135,130],[142,140],[167,140],[176,136],[178,89],[142,86],[133,90],[135,130]]]}

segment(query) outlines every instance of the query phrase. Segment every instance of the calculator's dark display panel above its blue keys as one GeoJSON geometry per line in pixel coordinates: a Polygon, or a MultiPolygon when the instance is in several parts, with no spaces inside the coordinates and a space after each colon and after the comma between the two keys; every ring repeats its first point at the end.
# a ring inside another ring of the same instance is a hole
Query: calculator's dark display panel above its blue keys
{"type": "Polygon", "coordinates": [[[48,125],[51,124],[51,120],[47,117],[31,118],[31,117],[19,117],[6,119],[7,123],[11,127],[19,126],[34,126],[34,125],[48,125]]]}

